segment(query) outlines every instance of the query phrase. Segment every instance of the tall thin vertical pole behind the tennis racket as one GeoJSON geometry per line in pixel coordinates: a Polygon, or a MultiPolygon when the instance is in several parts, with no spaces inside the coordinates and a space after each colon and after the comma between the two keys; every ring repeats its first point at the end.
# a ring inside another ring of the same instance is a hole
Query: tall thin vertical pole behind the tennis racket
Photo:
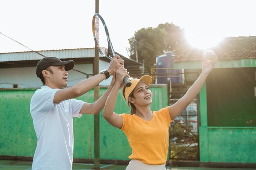
{"type": "MultiPolygon", "coordinates": [[[[95,13],[99,13],[99,0],[95,0],[95,13]]],[[[99,51],[95,44],[94,75],[99,74],[99,51]]],[[[99,84],[94,87],[94,101],[99,99],[99,84]]],[[[94,115],[94,169],[100,168],[99,152],[99,115],[94,115]]]]}

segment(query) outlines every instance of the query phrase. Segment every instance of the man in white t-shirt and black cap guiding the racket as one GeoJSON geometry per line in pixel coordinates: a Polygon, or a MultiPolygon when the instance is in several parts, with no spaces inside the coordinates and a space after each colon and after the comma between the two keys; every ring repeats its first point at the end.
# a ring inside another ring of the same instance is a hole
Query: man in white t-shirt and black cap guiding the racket
{"type": "Polygon", "coordinates": [[[67,87],[67,71],[74,61],[61,61],[45,57],[36,66],[36,75],[43,82],[31,98],[30,112],[37,137],[32,170],[71,170],[73,161],[73,118],[83,114],[99,114],[115,83],[94,103],[89,104],[79,97],[124,66],[124,60],[115,55],[108,70],[67,87]]]}

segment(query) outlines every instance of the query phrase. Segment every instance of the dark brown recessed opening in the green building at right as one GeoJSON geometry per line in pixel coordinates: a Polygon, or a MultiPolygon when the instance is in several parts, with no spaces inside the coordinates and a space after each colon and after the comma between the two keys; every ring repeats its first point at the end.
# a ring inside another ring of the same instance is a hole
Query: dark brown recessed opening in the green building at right
{"type": "Polygon", "coordinates": [[[256,127],[256,67],[218,68],[207,77],[208,126],[256,127]]]}

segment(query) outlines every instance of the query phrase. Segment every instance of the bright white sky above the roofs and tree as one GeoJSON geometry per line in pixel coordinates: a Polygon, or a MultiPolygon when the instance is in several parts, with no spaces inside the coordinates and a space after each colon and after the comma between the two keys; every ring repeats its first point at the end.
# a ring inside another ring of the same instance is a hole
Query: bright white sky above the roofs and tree
{"type": "MultiPolygon", "coordinates": [[[[185,30],[192,46],[209,49],[225,37],[256,36],[254,0],[99,0],[114,50],[166,22],[185,30]]],[[[1,0],[0,32],[35,51],[94,47],[95,0],[1,0]]],[[[0,53],[29,51],[0,34],[0,53]]]]}

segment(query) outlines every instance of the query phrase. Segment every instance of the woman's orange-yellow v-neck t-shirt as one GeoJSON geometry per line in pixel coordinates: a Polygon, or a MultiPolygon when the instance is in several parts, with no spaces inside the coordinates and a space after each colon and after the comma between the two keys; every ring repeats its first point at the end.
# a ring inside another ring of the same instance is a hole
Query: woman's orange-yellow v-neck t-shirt
{"type": "Polygon", "coordinates": [[[124,120],[121,130],[132,148],[129,159],[137,159],[150,165],[164,164],[168,152],[168,130],[172,121],[169,108],[153,111],[150,121],[126,113],[121,116],[124,120]]]}

